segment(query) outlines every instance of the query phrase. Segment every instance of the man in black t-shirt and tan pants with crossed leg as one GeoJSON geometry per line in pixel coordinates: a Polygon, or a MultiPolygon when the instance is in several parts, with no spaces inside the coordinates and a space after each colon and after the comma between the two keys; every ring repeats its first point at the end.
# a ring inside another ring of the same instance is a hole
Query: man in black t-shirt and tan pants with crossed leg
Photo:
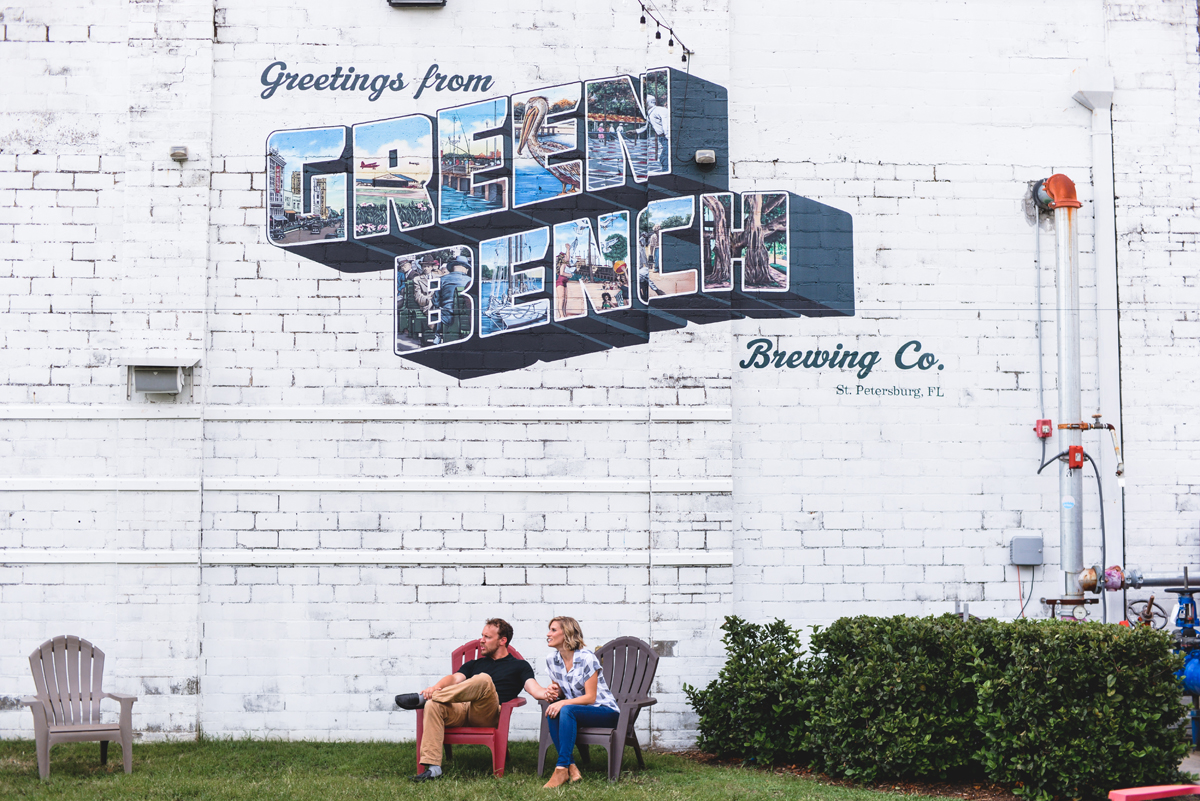
{"type": "Polygon", "coordinates": [[[442,742],[448,728],[496,727],[500,704],[520,695],[522,687],[538,700],[558,699],[558,687],[539,685],[529,663],[509,654],[511,639],[512,626],[492,618],[479,636],[481,657],[419,693],[396,695],[396,706],[425,710],[421,772],[413,777],[414,782],[442,777],[442,742]]]}

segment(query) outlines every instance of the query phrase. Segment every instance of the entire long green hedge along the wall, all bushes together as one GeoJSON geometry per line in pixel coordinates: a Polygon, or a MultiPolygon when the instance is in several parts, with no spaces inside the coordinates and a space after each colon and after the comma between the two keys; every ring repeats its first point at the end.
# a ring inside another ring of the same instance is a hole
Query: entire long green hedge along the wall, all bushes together
{"type": "Polygon", "coordinates": [[[986,778],[1037,801],[1178,779],[1181,658],[1164,632],[844,618],[805,656],[782,621],[722,630],[720,675],[684,687],[719,755],[864,782],[986,778]]]}

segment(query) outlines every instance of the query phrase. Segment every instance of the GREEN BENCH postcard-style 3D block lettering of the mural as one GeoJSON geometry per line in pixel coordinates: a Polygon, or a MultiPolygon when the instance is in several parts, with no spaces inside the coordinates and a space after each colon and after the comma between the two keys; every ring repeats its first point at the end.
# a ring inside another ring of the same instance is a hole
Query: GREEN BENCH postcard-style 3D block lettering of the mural
{"type": "Polygon", "coordinates": [[[277,131],[268,239],[342,272],[391,270],[396,355],[456,378],[688,323],[852,315],[850,215],[731,192],[727,103],[661,68],[277,131]]]}

